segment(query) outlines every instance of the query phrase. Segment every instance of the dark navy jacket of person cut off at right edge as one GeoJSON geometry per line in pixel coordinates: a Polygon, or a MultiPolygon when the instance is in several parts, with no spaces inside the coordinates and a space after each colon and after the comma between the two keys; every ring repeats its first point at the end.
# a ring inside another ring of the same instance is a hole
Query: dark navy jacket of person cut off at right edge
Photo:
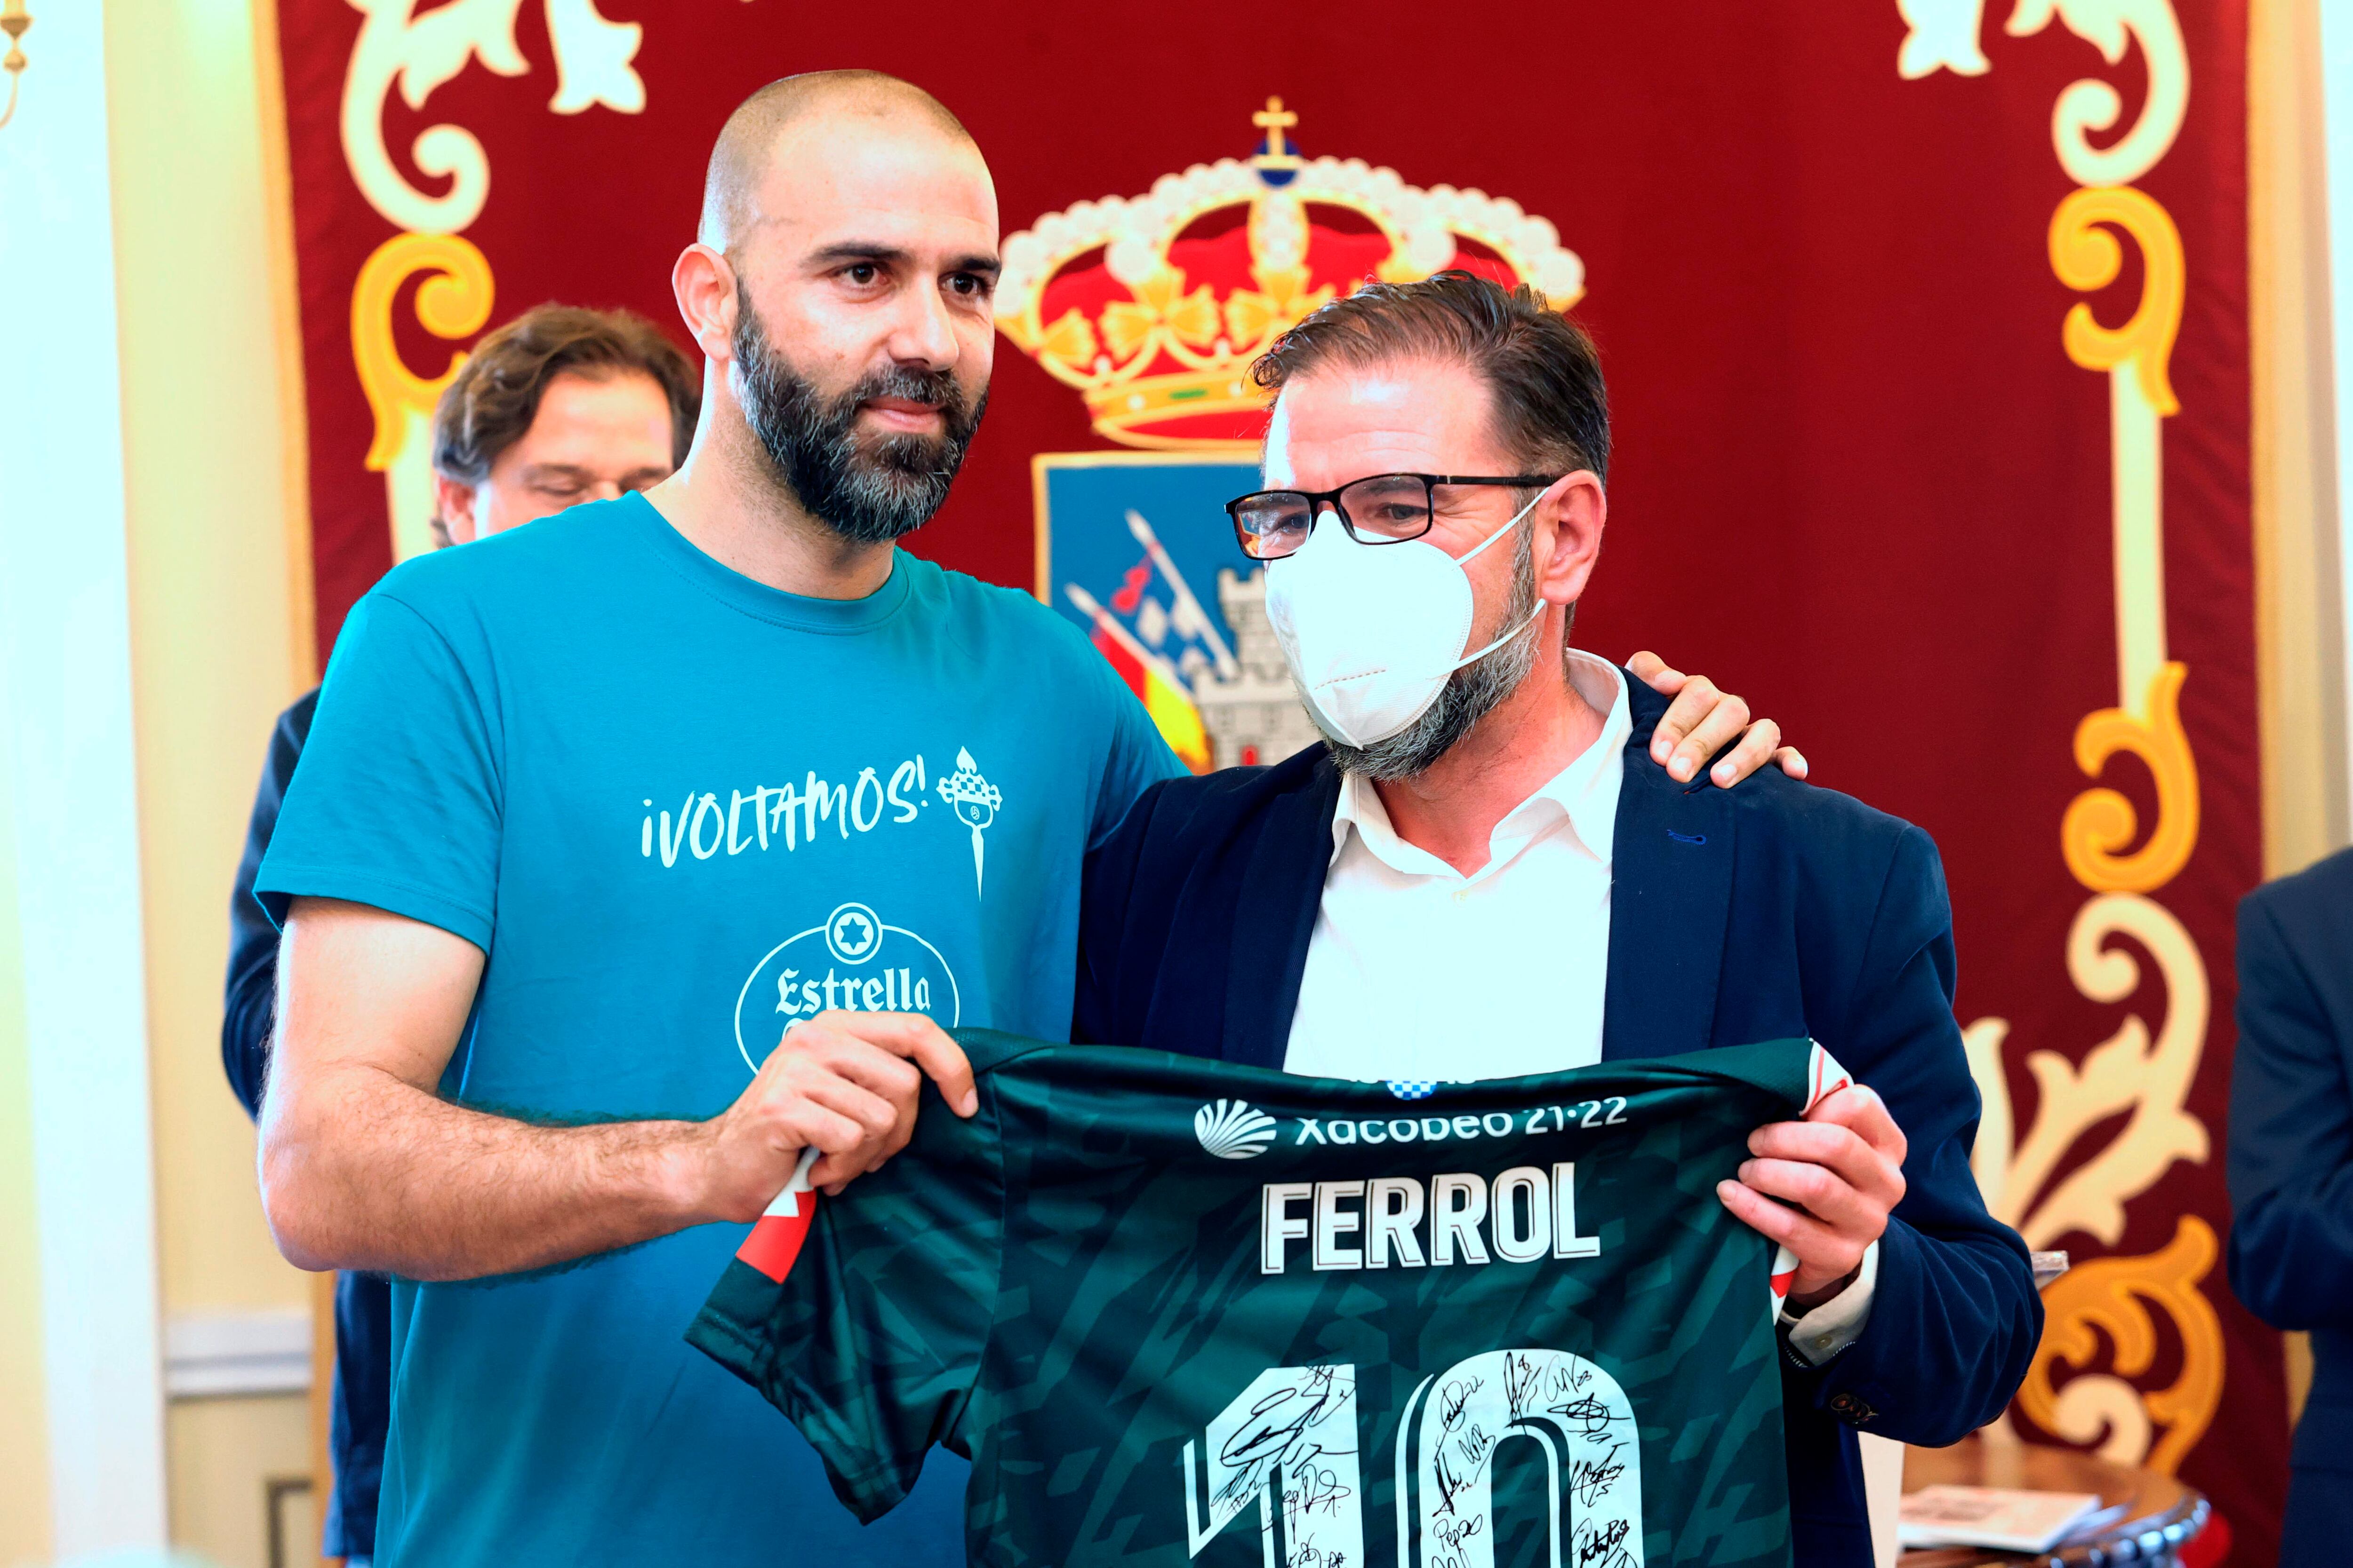
{"type": "Polygon", "coordinates": [[[2231,1288],[2313,1335],[2280,1568],[2353,1540],[2353,851],[2238,905],[2231,1288]]]}

